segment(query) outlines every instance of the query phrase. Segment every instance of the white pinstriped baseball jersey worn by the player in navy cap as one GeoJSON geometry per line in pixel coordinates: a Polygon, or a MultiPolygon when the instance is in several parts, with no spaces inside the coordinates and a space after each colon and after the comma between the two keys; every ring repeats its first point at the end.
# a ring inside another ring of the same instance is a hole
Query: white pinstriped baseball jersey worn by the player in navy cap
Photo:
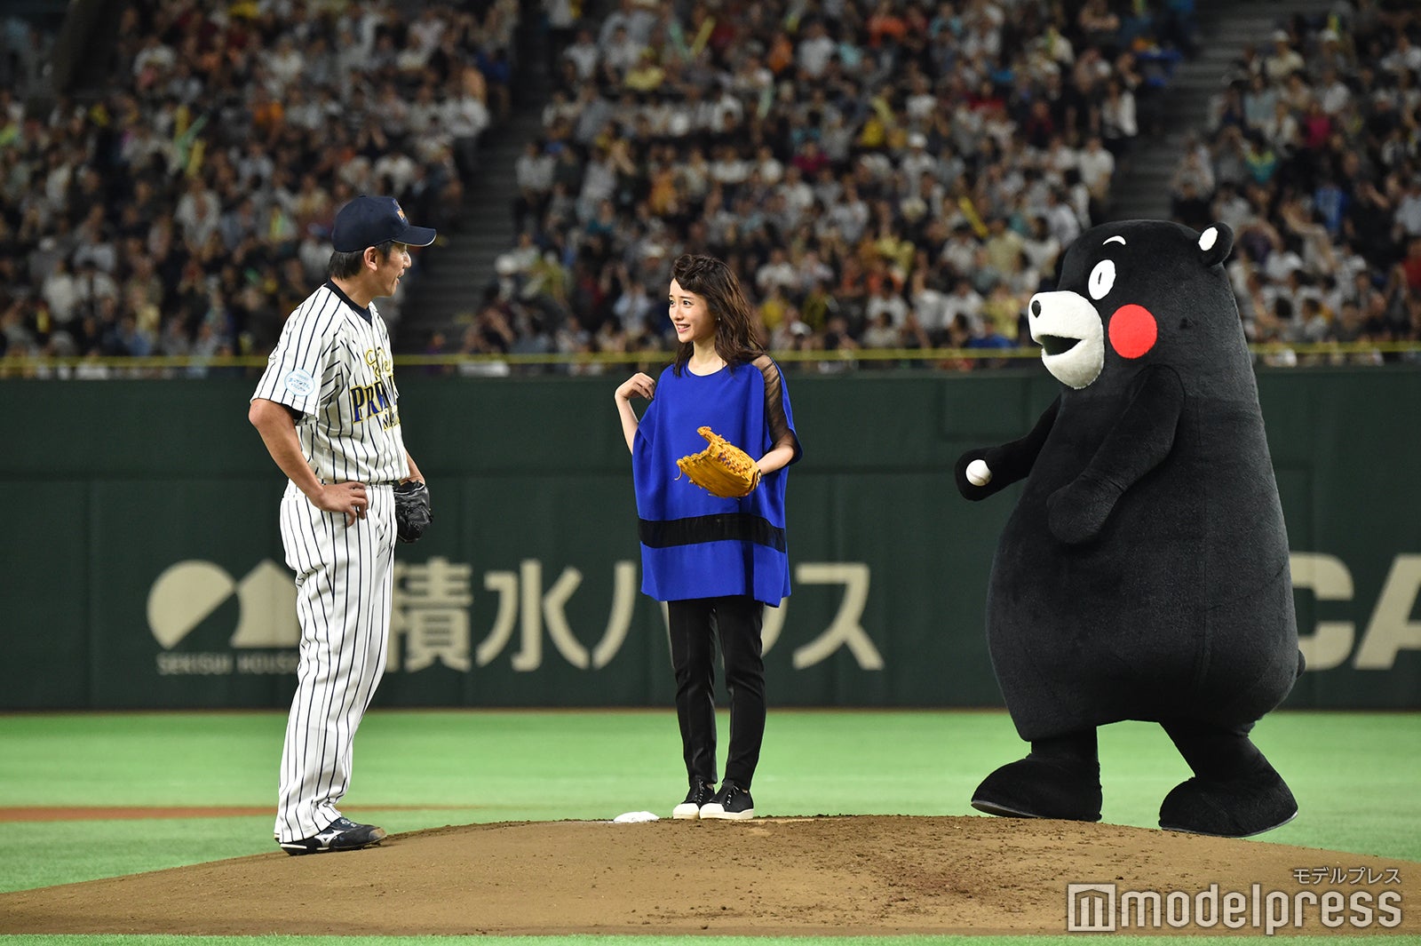
{"type": "Polygon", "coordinates": [[[389,331],[333,283],[287,318],[254,398],[303,415],[301,452],[323,483],[388,483],[409,474],[389,331]]]}

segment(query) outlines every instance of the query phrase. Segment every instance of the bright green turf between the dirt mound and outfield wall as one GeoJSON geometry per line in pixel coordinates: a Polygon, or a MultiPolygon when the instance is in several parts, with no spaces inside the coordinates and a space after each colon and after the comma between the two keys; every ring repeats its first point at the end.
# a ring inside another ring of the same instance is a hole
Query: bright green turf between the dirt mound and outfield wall
{"type": "MultiPolygon", "coordinates": [[[[0,716],[0,807],[270,805],[284,722],[284,713],[0,716]]],[[[1275,713],[1259,724],[1256,741],[1287,777],[1302,807],[1295,822],[1258,842],[1421,861],[1421,834],[1414,830],[1421,812],[1415,795],[1421,713],[1275,713]]],[[[1100,749],[1104,820],[1154,827],[1160,798],[1188,776],[1169,741],[1157,726],[1121,723],[1101,730],[1100,749]]],[[[766,815],[975,814],[968,805],[972,788],[1022,751],[1002,712],[772,710],[755,781],[756,810],[766,815]]],[[[401,832],[486,821],[611,818],[638,810],[665,815],[684,791],[671,710],[375,710],[357,739],[354,785],[342,807],[401,832]]],[[[270,852],[270,830],[271,815],[13,822],[0,832],[0,891],[270,852]]],[[[320,937],[23,936],[3,943],[216,946],[229,939],[311,946],[320,937]]],[[[550,946],[647,942],[477,939],[550,946]]],[[[1086,939],[1020,942],[1047,946],[1086,939]]],[[[357,942],[408,946],[416,940],[340,940],[341,946],[357,942]]],[[[685,942],[709,946],[716,940],[685,942]]],[[[736,942],[806,946],[810,940],[736,942]]],[[[925,946],[958,939],[871,942],[925,946]]],[[[983,946],[986,940],[963,942],[983,946]]],[[[1110,942],[1133,940],[1111,936],[1110,942]]]]}

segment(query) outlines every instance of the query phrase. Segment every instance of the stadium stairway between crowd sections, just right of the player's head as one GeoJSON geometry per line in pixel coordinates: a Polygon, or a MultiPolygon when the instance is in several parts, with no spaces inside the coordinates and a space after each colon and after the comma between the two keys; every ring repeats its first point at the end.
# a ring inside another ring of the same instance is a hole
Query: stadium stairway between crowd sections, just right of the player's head
{"type": "Polygon", "coordinates": [[[522,0],[520,6],[519,68],[509,118],[479,141],[479,170],[476,180],[465,186],[459,210],[462,226],[446,234],[448,243],[409,287],[409,298],[401,307],[396,341],[401,352],[426,351],[436,331],[458,347],[463,325],[473,320],[485,290],[496,283],[493,261],[517,241],[513,165],[523,146],[543,134],[543,105],[553,88],[543,11],[537,0],[522,0]]]}

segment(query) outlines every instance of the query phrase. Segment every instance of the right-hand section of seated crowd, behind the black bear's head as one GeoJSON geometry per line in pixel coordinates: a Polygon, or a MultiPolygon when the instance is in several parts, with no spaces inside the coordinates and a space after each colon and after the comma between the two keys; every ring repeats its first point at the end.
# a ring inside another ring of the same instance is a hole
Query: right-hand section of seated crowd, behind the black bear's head
{"type": "MultiPolygon", "coordinates": [[[[1421,339],[1421,16],[1370,0],[1245,47],[1171,182],[1174,214],[1236,232],[1250,341],[1421,339]]],[[[1380,351],[1351,361],[1376,362],[1380,351]]]]}

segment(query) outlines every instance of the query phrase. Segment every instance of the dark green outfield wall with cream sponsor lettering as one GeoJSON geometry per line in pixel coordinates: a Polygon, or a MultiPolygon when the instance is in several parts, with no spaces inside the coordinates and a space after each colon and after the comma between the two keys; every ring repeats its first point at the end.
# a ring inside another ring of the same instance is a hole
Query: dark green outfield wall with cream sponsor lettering
{"type": "MultiPolygon", "coordinates": [[[[639,584],[621,375],[401,376],[435,524],[401,545],[385,706],[669,706],[639,584]]],[[[250,379],[0,382],[0,709],[274,707],[294,686],[284,484],[250,379]]],[[[1263,372],[1309,672],[1299,707],[1421,707],[1421,372],[1263,372]]],[[[794,595],[774,705],[996,706],[983,599],[1013,487],[958,497],[969,446],[1026,432],[1039,366],[790,375],[794,595]]]]}

